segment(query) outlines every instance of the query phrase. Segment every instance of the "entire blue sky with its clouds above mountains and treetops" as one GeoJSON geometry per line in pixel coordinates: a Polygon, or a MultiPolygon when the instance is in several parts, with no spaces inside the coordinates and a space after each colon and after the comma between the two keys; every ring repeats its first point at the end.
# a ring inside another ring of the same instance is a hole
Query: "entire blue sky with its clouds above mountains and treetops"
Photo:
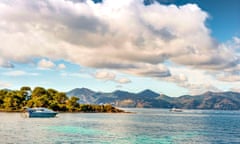
{"type": "Polygon", "coordinates": [[[240,92],[239,0],[1,0],[0,89],[240,92]]]}

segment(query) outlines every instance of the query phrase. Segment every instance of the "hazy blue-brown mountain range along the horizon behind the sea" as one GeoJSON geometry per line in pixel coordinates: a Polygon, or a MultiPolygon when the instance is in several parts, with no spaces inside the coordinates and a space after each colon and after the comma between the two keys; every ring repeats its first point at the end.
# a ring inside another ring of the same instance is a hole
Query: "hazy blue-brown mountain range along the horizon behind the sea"
{"type": "Polygon", "coordinates": [[[110,103],[117,107],[240,110],[240,93],[231,91],[170,97],[149,89],[139,93],[120,90],[104,93],[87,88],[75,88],[66,94],[69,97],[78,97],[80,103],[110,103]]]}

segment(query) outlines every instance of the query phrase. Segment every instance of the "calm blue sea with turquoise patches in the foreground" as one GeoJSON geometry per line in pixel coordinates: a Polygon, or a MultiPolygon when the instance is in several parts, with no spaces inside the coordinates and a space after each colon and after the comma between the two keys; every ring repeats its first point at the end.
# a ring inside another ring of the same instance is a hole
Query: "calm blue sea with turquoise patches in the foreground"
{"type": "Polygon", "coordinates": [[[0,144],[240,144],[240,111],[124,110],[132,113],[0,113],[0,144]]]}

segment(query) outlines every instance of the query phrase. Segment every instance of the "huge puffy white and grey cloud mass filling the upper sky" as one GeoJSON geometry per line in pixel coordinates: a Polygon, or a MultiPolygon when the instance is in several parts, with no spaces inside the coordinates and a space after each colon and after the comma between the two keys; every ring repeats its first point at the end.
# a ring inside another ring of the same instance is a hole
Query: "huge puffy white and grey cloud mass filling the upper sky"
{"type": "MultiPolygon", "coordinates": [[[[9,0],[1,1],[0,9],[0,66],[44,57],[147,77],[169,77],[166,60],[214,70],[239,62],[236,49],[213,40],[205,25],[208,14],[195,4],[9,0]]],[[[56,65],[43,59],[39,67],[56,65]]]]}

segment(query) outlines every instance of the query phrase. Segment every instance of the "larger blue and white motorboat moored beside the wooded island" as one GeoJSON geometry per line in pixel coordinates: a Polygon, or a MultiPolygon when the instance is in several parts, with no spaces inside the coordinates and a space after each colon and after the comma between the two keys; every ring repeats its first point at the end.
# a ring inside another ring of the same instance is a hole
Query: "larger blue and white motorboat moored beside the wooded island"
{"type": "Polygon", "coordinates": [[[23,116],[29,118],[49,118],[55,117],[58,113],[47,108],[25,108],[23,116]]]}

